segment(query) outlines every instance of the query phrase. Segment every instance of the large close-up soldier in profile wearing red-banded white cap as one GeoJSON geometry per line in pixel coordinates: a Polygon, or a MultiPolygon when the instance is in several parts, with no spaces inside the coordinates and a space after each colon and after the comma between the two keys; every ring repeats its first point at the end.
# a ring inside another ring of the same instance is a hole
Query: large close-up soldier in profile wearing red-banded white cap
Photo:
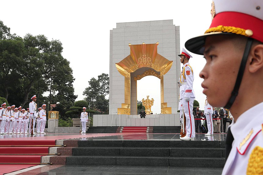
{"type": "Polygon", "coordinates": [[[262,174],[263,1],[214,0],[211,14],[209,29],[185,47],[206,59],[199,75],[208,102],[234,118],[222,174],[262,174]]]}

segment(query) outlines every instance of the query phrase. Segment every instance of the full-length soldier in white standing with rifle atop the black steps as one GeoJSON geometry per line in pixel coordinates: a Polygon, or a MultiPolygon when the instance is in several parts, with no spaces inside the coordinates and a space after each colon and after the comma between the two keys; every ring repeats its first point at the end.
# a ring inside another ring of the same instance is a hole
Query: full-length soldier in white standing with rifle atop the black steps
{"type": "Polygon", "coordinates": [[[186,118],[186,135],[181,140],[195,139],[195,120],[193,115],[193,105],[195,100],[195,92],[193,90],[194,72],[189,64],[192,56],[182,49],[180,61],[183,63],[183,69],[180,75],[180,100],[184,108],[184,116],[186,118]]]}

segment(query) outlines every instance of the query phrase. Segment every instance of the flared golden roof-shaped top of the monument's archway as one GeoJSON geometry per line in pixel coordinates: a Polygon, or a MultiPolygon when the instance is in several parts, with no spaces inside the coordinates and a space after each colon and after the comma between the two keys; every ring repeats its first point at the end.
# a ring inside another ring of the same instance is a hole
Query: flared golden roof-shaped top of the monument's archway
{"type": "Polygon", "coordinates": [[[141,67],[150,67],[160,72],[161,76],[166,74],[170,70],[173,61],[170,61],[157,53],[158,45],[159,42],[156,44],[129,44],[130,55],[128,55],[119,63],[116,63],[119,73],[121,73],[123,76],[129,77],[131,72],[135,72],[141,67]]]}

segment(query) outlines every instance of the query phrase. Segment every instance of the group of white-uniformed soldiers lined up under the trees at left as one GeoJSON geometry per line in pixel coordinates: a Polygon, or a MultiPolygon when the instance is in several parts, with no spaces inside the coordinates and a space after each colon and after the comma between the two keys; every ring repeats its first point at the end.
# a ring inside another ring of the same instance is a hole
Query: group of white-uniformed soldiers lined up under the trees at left
{"type": "MultiPolygon", "coordinates": [[[[35,95],[33,97],[36,98],[35,95]]],[[[33,97],[31,99],[32,102],[35,103],[33,97]]],[[[21,106],[18,108],[16,108],[15,105],[6,107],[6,103],[3,103],[0,107],[0,134],[28,134],[27,130],[29,123],[29,133],[31,133],[32,120],[33,128],[35,128],[35,122],[37,122],[37,133],[46,134],[44,132],[46,126],[46,104],[43,104],[42,107],[38,108],[38,112],[34,115],[36,104],[34,104],[35,108],[33,109],[32,102],[30,102],[27,111],[22,109],[21,106]],[[33,113],[33,116],[31,113],[33,113]]],[[[36,133],[33,132],[33,134],[36,133]]]]}

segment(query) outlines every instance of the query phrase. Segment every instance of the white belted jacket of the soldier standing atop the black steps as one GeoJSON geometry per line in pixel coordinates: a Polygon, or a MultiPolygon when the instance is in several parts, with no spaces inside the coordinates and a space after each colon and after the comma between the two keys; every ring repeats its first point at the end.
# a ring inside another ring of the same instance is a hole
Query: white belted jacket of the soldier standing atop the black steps
{"type": "Polygon", "coordinates": [[[185,97],[195,98],[195,92],[193,90],[194,74],[189,62],[185,63],[180,75],[180,99],[185,97]]]}

